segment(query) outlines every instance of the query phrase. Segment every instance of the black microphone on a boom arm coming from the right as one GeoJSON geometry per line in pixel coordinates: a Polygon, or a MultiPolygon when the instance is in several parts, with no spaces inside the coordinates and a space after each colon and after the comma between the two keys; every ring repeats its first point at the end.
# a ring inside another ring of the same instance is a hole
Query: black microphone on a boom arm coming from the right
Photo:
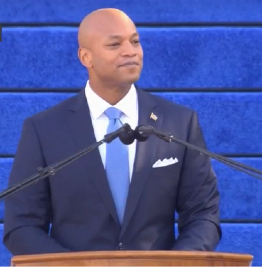
{"type": "Polygon", "coordinates": [[[234,161],[234,160],[229,159],[227,157],[224,157],[222,155],[212,153],[212,152],[210,152],[208,150],[205,150],[205,149],[203,149],[201,147],[198,147],[198,146],[196,146],[194,144],[190,144],[188,142],[185,142],[185,141],[182,141],[180,139],[177,139],[173,135],[170,135],[170,134],[161,132],[159,130],[156,130],[152,126],[141,125],[141,126],[137,126],[135,128],[135,136],[140,137],[140,139],[147,139],[152,134],[156,135],[158,138],[160,138],[163,141],[166,141],[168,143],[170,143],[171,141],[176,142],[176,143],[178,143],[180,145],[184,145],[185,147],[188,147],[189,149],[196,150],[201,154],[208,155],[209,157],[211,157],[213,159],[216,159],[216,160],[228,165],[229,167],[233,167],[238,171],[245,172],[248,175],[251,175],[251,176],[253,176],[255,178],[258,178],[258,179],[262,180],[261,176],[258,176],[258,175],[255,175],[255,174],[252,173],[252,172],[254,172],[254,173],[257,173],[259,175],[262,175],[261,170],[258,170],[258,169],[253,168],[253,167],[249,167],[249,166],[244,165],[242,163],[238,163],[237,161],[234,161]]]}

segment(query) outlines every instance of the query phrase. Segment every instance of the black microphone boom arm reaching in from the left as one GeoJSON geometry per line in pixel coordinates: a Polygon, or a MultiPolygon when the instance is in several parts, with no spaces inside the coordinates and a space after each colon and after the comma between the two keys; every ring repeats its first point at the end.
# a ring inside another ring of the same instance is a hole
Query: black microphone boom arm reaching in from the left
{"type": "Polygon", "coordinates": [[[26,178],[25,180],[19,182],[18,184],[15,184],[14,186],[11,186],[11,187],[7,188],[6,190],[0,192],[0,201],[4,200],[5,198],[7,198],[8,196],[12,195],[13,193],[15,193],[17,191],[22,190],[23,188],[29,186],[30,184],[33,184],[33,183],[39,181],[40,179],[46,178],[50,175],[51,176],[54,175],[56,171],[60,170],[63,167],[66,167],[67,165],[76,161],[78,158],[82,157],[86,153],[89,153],[92,150],[96,149],[101,144],[110,143],[114,139],[116,139],[117,137],[120,137],[122,135],[125,136],[126,134],[124,134],[124,133],[130,131],[130,129],[131,129],[131,127],[129,124],[124,124],[118,130],[116,130],[112,133],[106,134],[101,141],[96,142],[95,144],[89,146],[88,148],[86,148],[86,149],[60,161],[60,162],[57,162],[51,166],[48,166],[45,168],[38,167],[37,168],[38,173],[36,173],[36,174],[30,176],[29,178],[26,178]]]}

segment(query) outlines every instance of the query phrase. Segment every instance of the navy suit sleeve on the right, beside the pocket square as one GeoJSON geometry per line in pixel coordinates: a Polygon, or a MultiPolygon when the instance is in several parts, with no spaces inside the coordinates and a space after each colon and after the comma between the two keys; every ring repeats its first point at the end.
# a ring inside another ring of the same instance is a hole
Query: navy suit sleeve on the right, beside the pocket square
{"type": "MultiPolygon", "coordinates": [[[[196,112],[188,143],[206,149],[196,112]]],[[[219,192],[211,159],[186,148],[177,197],[179,236],[174,250],[214,251],[222,232],[219,224],[219,192]]]]}

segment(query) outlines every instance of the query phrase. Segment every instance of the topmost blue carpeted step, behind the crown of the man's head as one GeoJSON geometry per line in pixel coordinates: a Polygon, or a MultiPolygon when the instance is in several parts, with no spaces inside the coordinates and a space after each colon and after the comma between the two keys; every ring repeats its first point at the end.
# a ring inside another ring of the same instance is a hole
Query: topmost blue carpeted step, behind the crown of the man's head
{"type": "Polygon", "coordinates": [[[4,0],[1,22],[80,22],[93,10],[115,7],[135,22],[261,21],[260,0],[4,0]],[[150,7],[150,8],[148,8],[150,7]],[[145,12],[146,10],[146,12],[145,12]]]}

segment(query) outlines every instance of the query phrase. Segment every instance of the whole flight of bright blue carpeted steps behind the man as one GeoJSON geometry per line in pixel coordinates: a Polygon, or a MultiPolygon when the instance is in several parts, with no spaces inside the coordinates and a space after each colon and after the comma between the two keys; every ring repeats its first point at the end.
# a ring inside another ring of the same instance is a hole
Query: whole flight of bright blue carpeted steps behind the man
{"type": "MultiPolygon", "coordinates": [[[[145,59],[138,86],[196,109],[211,151],[262,170],[262,1],[2,0],[0,190],[23,120],[85,85],[77,24],[102,7],[120,8],[139,23],[145,59]]],[[[252,254],[261,266],[262,182],[213,166],[223,229],[217,251],[252,254]]],[[[0,203],[1,237],[2,222],[0,203]]],[[[10,257],[0,242],[0,265],[10,265],[10,257]]]]}

